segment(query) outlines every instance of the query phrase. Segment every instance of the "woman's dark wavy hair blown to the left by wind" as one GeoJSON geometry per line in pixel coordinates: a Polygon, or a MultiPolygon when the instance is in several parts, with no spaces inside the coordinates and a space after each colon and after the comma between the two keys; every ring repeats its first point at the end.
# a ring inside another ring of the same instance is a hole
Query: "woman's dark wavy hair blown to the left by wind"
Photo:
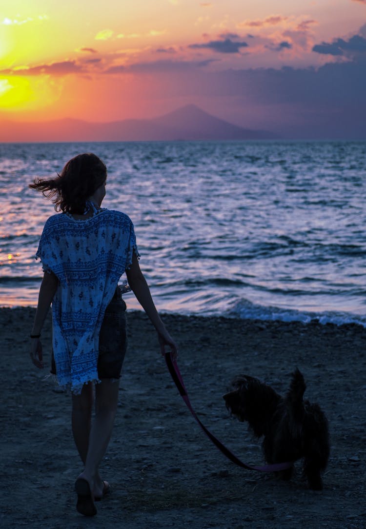
{"type": "Polygon", "coordinates": [[[52,198],[54,209],[63,213],[83,214],[86,199],[105,183],[107,168],[95,154],[78,154],[69,160],[57,178],[34,178],[31,189],[52,198]]]}

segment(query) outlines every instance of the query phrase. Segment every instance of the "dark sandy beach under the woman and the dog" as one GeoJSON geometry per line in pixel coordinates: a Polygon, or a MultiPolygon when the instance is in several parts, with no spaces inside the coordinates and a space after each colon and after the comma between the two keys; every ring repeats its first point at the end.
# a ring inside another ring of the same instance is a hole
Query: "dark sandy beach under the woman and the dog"
{"type": "MultiPolygon", "coordinates": [[[[242,470],[200,431],[182,402],[142,312],[129,313],[129,348],[112,441],[101,466],[112,493],[87,519],[76,512],[81,464],[71,437],[70,394],[29,357],[33,308],[0,309],[2,527],[240,529],[366,526],[366,330],[164,315],[180,346],[179,368],[203,423],[246,463],[260,443],[231,418],[222,395],[246,373],[286,391],[295,367],[330,424],[324,490],[298,470],[290,482],[242,470]]],[[[50,361],[51,319],[42,333],[50,361]]],[[[297,464],[299,469],[299,464],[297,464]]]]}

